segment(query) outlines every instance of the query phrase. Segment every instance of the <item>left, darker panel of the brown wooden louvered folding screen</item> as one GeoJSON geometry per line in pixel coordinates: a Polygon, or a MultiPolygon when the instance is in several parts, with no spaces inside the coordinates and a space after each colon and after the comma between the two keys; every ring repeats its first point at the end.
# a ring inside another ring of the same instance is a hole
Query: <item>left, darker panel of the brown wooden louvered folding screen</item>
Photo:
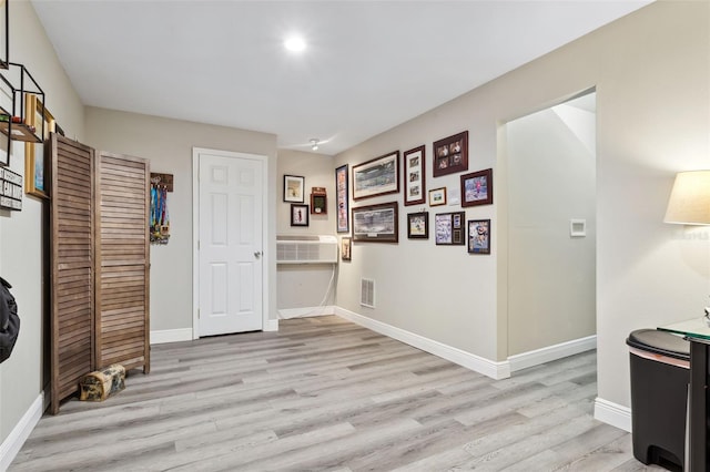
{"type": "Polygon", "coordinates": [[[51,399],[60,402],[79,390],[93,370],[94,226],[93,150],[53,134],[52,165],[51,399]]]}

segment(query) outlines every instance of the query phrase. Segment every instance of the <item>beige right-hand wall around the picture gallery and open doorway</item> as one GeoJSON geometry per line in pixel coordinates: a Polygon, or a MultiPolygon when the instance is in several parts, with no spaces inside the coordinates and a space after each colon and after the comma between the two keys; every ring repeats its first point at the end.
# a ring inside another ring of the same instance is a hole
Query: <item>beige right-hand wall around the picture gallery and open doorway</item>
{"type": "MultiPolygon", "coordinates": [[[[466,211],[467,218],[493,219],[493,255],[402,237],[397,246],[356,245],[353,264],[341,266],[338,306],[505,360],[508,189],[500,126],[596,86],[599,397],[629,406],[629,331],[688,318],[707,302],[707,238],[662,217],[673,174],[709,165],[709,24],[708,2],[656,2],[337,155],[336,166],[357,164],[426,144],[430,168],[432,142],[468,130],[469,170],[494,168],[496,202],[466,211]],[[361,277],[387,294],[374,310],[357,304],[361,277]]],[[[427,182],[427,188],[458,185],[458,175],[427,182]]],[[[393,199],[402,202],[367,203],[393,199]]],[[[403,225],[409,209],[399,211],[403,225]]]]}

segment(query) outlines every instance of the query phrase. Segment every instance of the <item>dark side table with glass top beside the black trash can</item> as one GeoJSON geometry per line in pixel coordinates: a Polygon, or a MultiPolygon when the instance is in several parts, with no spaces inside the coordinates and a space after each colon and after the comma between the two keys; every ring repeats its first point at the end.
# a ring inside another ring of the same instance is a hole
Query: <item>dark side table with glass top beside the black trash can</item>
{"type": "Polygon", "coordinates": [[[708,464],[708,355],[710,327],[702,317],[662,326],[662,331],[690,341],[690,392],[688,399],[688,471],[707,472],[708,464]]]}

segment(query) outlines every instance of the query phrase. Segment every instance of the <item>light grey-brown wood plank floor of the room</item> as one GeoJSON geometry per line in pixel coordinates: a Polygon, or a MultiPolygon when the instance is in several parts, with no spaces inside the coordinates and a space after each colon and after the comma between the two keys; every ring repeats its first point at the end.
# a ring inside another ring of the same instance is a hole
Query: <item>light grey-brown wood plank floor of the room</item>
{"type": "Polygon", "coordinates": [[[328,316],[154,346],[43,417],[10,471],[643,471],[592,418],[596,355],[491,380],[328,316]]]}

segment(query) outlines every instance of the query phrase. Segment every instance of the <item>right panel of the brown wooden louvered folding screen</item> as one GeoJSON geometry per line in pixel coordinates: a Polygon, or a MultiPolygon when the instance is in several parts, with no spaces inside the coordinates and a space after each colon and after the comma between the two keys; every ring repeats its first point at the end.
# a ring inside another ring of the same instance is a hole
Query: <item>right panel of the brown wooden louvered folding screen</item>
{"type": "Polygon", "coordinates": [[[148,160],[97,160],[97,368],[150,371],[150,170],[148,160]]]}

